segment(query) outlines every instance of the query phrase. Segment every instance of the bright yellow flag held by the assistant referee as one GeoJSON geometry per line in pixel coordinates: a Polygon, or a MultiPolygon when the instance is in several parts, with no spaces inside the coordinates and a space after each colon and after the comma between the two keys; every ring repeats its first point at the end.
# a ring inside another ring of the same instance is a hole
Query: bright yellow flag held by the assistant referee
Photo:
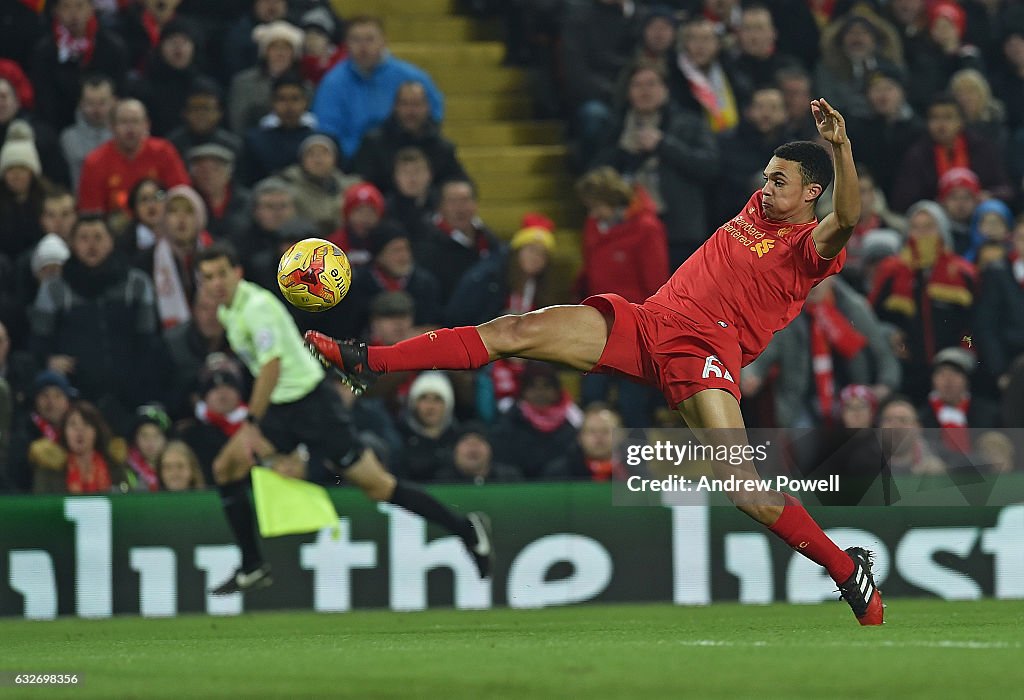
{"type": "Polygon", "coordinates": [[[325,527],[333,527],[337,535],[338,512],[323,486],[265,467],[253,467],[252,480],[256,519],[264,537],[315,532],[325,527]]]}

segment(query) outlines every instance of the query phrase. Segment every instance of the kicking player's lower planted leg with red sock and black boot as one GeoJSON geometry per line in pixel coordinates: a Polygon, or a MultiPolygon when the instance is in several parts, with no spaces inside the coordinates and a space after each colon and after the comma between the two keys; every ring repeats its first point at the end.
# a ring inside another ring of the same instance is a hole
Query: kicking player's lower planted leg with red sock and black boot
{"type": "MultiPolygon", "coordinates": [[[[679,412],[703,444],[745,445],[746,437],[739,402],[732,394],[708,389],[679,404],[679,412]]],[[[731,466],[715,462],[719,479],[757,480],[754,463],[731,466]]],[[[846,552],[828,538],[807,510],[793,496],[778,491],[740,489],[729,493],[736,507],[775,533],[786,544],[820,564],[839,585],[861,624],[882,624],[882,595],[871,576],[871,555],[861,548],[846,552]]]]}

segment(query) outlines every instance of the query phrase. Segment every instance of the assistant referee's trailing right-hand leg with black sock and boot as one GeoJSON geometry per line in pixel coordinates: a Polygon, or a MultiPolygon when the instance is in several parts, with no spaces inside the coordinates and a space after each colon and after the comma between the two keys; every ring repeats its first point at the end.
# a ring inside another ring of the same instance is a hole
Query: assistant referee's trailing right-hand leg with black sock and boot
{"type": "Polygon", "coordinates": [[[460,515],[411,482],[395,479],[381,465],[372,449],[362,452],[355,464],[344,471],[344,477],[362,489],[368,497],[401,506],[407,511],[436,523],[459,536],[476,564],[480,578],[490,575],[495,563],[490,519],[484,513],[460,515]]]}

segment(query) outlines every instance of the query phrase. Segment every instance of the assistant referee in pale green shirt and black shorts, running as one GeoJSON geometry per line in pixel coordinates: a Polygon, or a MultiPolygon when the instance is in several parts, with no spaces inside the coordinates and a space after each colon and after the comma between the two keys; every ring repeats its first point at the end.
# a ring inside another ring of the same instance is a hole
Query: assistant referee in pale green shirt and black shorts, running
{"type": "Polygon", "coordinates": [[[493,548],[486,516],[454,513],[384,469],[355,434],[341,398],[303,345],[284,302],[243,278],[230,246],[219,243],[201,251],[197,265],[203,287],[217,302],[227,342],[256,380],[247,424],[213,463],[224,515],[242,550],[242,566],[212,593],[252,590],[272,582],[256,536],[249,472],[255,462],[288,454],[299,444],[309,451],[310,480],[342,475],[368,497],[437,523],[462,539],[480,576],[489,575],[493,548]]]}

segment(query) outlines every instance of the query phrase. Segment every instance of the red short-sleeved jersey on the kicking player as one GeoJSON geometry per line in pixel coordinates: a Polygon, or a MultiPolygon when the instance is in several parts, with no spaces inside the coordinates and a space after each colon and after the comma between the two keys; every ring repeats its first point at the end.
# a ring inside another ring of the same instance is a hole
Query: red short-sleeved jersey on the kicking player
{"type": "Polygon", "coordinates": [[[761,198],[760,189],[754,192],[648,300],[694,320],[732,325],[743,366],[800,313],[811,288],[846,260],[845,250],[831,260],[818,254],[811,236],[816,220],[769,221],[761,198]]]}

